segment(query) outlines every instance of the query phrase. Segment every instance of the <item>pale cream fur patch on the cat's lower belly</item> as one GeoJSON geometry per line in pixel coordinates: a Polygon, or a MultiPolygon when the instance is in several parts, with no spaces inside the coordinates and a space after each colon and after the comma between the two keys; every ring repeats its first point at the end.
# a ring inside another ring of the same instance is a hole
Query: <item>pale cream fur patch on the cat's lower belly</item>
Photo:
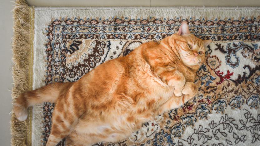
{"type": "Polygon", "coordinates": [[[142,120],[129,121],[129,116],[119,116],[111,121],[103,123],[79,121],[74,132],[78,139],[96,139],[96,142],[117,142],[127,138],[134,131],[138,130],[144,122],[152,120],[153,117],[139,117],[142,120]]]}

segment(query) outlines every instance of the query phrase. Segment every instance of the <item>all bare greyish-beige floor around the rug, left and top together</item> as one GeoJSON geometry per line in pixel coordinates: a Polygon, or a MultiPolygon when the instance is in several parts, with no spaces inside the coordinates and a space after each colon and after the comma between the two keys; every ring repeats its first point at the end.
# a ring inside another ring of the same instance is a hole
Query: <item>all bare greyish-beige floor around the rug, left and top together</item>
{"type": "MultiPolygon", "coordinates": [[[[27,0],[31,6],[260,6],[259,0],[27,0]]],[[[11,89],[12,89],[12,7],[10,0],[1,0],[0,5],[0,61],[2,71],[0,72],[0,146],[10,145],[10,111],[11,89]]]]}

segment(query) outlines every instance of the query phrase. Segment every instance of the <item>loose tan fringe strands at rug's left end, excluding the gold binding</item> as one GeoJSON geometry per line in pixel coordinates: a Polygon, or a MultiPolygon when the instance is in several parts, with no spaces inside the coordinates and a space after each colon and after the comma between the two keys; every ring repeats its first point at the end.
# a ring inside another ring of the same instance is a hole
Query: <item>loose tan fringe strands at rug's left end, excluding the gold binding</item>
{"type": "MultiPolygon", "coordinates": [[[[12,101],[18,95],[28,90],[28,68],[30,50],[30,7],[25,0],[16,0],[13,8],[13,37],[12,37],[12,101]]],[[[27,122],[16,119],[15,114],[11,113],[11,145],[26,146],[27,122]]]]}

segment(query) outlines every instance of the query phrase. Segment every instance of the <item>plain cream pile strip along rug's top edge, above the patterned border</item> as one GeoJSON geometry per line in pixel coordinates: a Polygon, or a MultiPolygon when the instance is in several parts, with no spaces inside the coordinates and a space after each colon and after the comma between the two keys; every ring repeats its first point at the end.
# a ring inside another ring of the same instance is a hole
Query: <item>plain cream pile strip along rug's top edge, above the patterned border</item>
{"type": "Polygon", "coordinates": [[[82,10],[87,12],[89,18],[105,19],[117,17],[118,15],[136,18],[175,18],[182,19],[232,19],[259,17],[260,7],[35,7],[36,11],[70,11],[82,10]],[[162,12],[163,11],[163,12],[162,12]]]}

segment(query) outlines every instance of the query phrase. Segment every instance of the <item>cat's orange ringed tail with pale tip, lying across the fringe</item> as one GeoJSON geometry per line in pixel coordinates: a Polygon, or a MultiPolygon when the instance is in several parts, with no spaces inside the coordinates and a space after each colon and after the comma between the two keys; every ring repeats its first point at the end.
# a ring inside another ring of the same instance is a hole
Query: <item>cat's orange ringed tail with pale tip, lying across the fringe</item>
{"type": "Polygon", "coordinates": [[[19,95],[13,103],[13,111],[20,121],[27,119],[27,108],[43,102],[56,103],[60,91],[68,90],[73,83],[53,83],[19,95]]]}

